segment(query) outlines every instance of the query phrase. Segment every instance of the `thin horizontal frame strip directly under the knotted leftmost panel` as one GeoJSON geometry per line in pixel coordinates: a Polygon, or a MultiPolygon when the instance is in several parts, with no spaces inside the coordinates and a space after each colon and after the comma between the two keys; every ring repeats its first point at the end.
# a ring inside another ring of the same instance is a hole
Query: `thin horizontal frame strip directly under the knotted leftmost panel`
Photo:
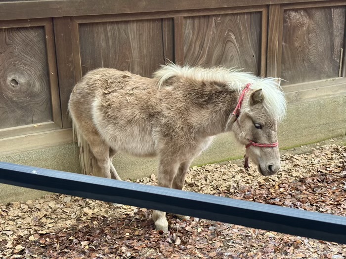
{"type": "Polygon", "coordinates": [[[43,122],[13,128],[0,129],[0,139],[59,129],[54,122],[43,122]]]}

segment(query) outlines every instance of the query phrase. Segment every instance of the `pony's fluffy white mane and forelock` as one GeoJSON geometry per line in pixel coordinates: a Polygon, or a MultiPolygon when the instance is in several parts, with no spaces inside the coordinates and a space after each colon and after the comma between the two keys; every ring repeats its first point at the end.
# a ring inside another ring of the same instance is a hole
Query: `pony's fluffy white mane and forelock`
{"type": "Polygon", "coordinates": [[[173,63],[163,65],[154,74],[161,87],[173,76],[188,78],[196,81],[213,81],[224,83],[230,89],[242,91],[246,84],[251,83],[251,89],[262,89],[263,106],[270,116],[282,120],[286,114],[285,94],[280,87],[280,78],[259,77],[251,73],[240,72],[233,68],[214,67],[201,68],[178,66],[173,63]]]}

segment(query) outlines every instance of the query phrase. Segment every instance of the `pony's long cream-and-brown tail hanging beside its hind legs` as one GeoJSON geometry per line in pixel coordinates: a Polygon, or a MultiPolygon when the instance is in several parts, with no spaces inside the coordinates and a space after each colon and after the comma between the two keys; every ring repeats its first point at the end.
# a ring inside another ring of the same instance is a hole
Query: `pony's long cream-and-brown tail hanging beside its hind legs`
{"type": "Polygon", "coordinates": [[[81,173],[84,175],[104,177],[103,175],[99,175],[100,171],[97,170],[97,161],[90,150],[87,140],[78,130],[78,126],[75,123],[72,123],[72,130],[74,145],[77,142],[79,147],[79,162],[81,165],[81,173]]]}

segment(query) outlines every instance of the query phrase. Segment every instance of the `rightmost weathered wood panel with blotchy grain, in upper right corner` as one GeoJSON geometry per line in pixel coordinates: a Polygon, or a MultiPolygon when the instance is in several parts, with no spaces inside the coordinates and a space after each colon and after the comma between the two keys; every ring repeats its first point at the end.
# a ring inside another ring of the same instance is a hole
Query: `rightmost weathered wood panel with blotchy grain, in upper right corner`
{"type": "Polygon", "coordinates": [[[283,84],[338,77],[344,28],[345,6],[285,10],[283,84]]]}

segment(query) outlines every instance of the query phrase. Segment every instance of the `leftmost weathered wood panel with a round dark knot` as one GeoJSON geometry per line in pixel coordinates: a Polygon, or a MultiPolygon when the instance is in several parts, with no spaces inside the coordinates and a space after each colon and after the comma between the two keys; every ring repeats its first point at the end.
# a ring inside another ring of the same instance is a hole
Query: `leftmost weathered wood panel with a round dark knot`
{"type": "Polygon", "coordinates": [[[52,120],[44,27],[0,29],[0,128],[52,120]]]}

